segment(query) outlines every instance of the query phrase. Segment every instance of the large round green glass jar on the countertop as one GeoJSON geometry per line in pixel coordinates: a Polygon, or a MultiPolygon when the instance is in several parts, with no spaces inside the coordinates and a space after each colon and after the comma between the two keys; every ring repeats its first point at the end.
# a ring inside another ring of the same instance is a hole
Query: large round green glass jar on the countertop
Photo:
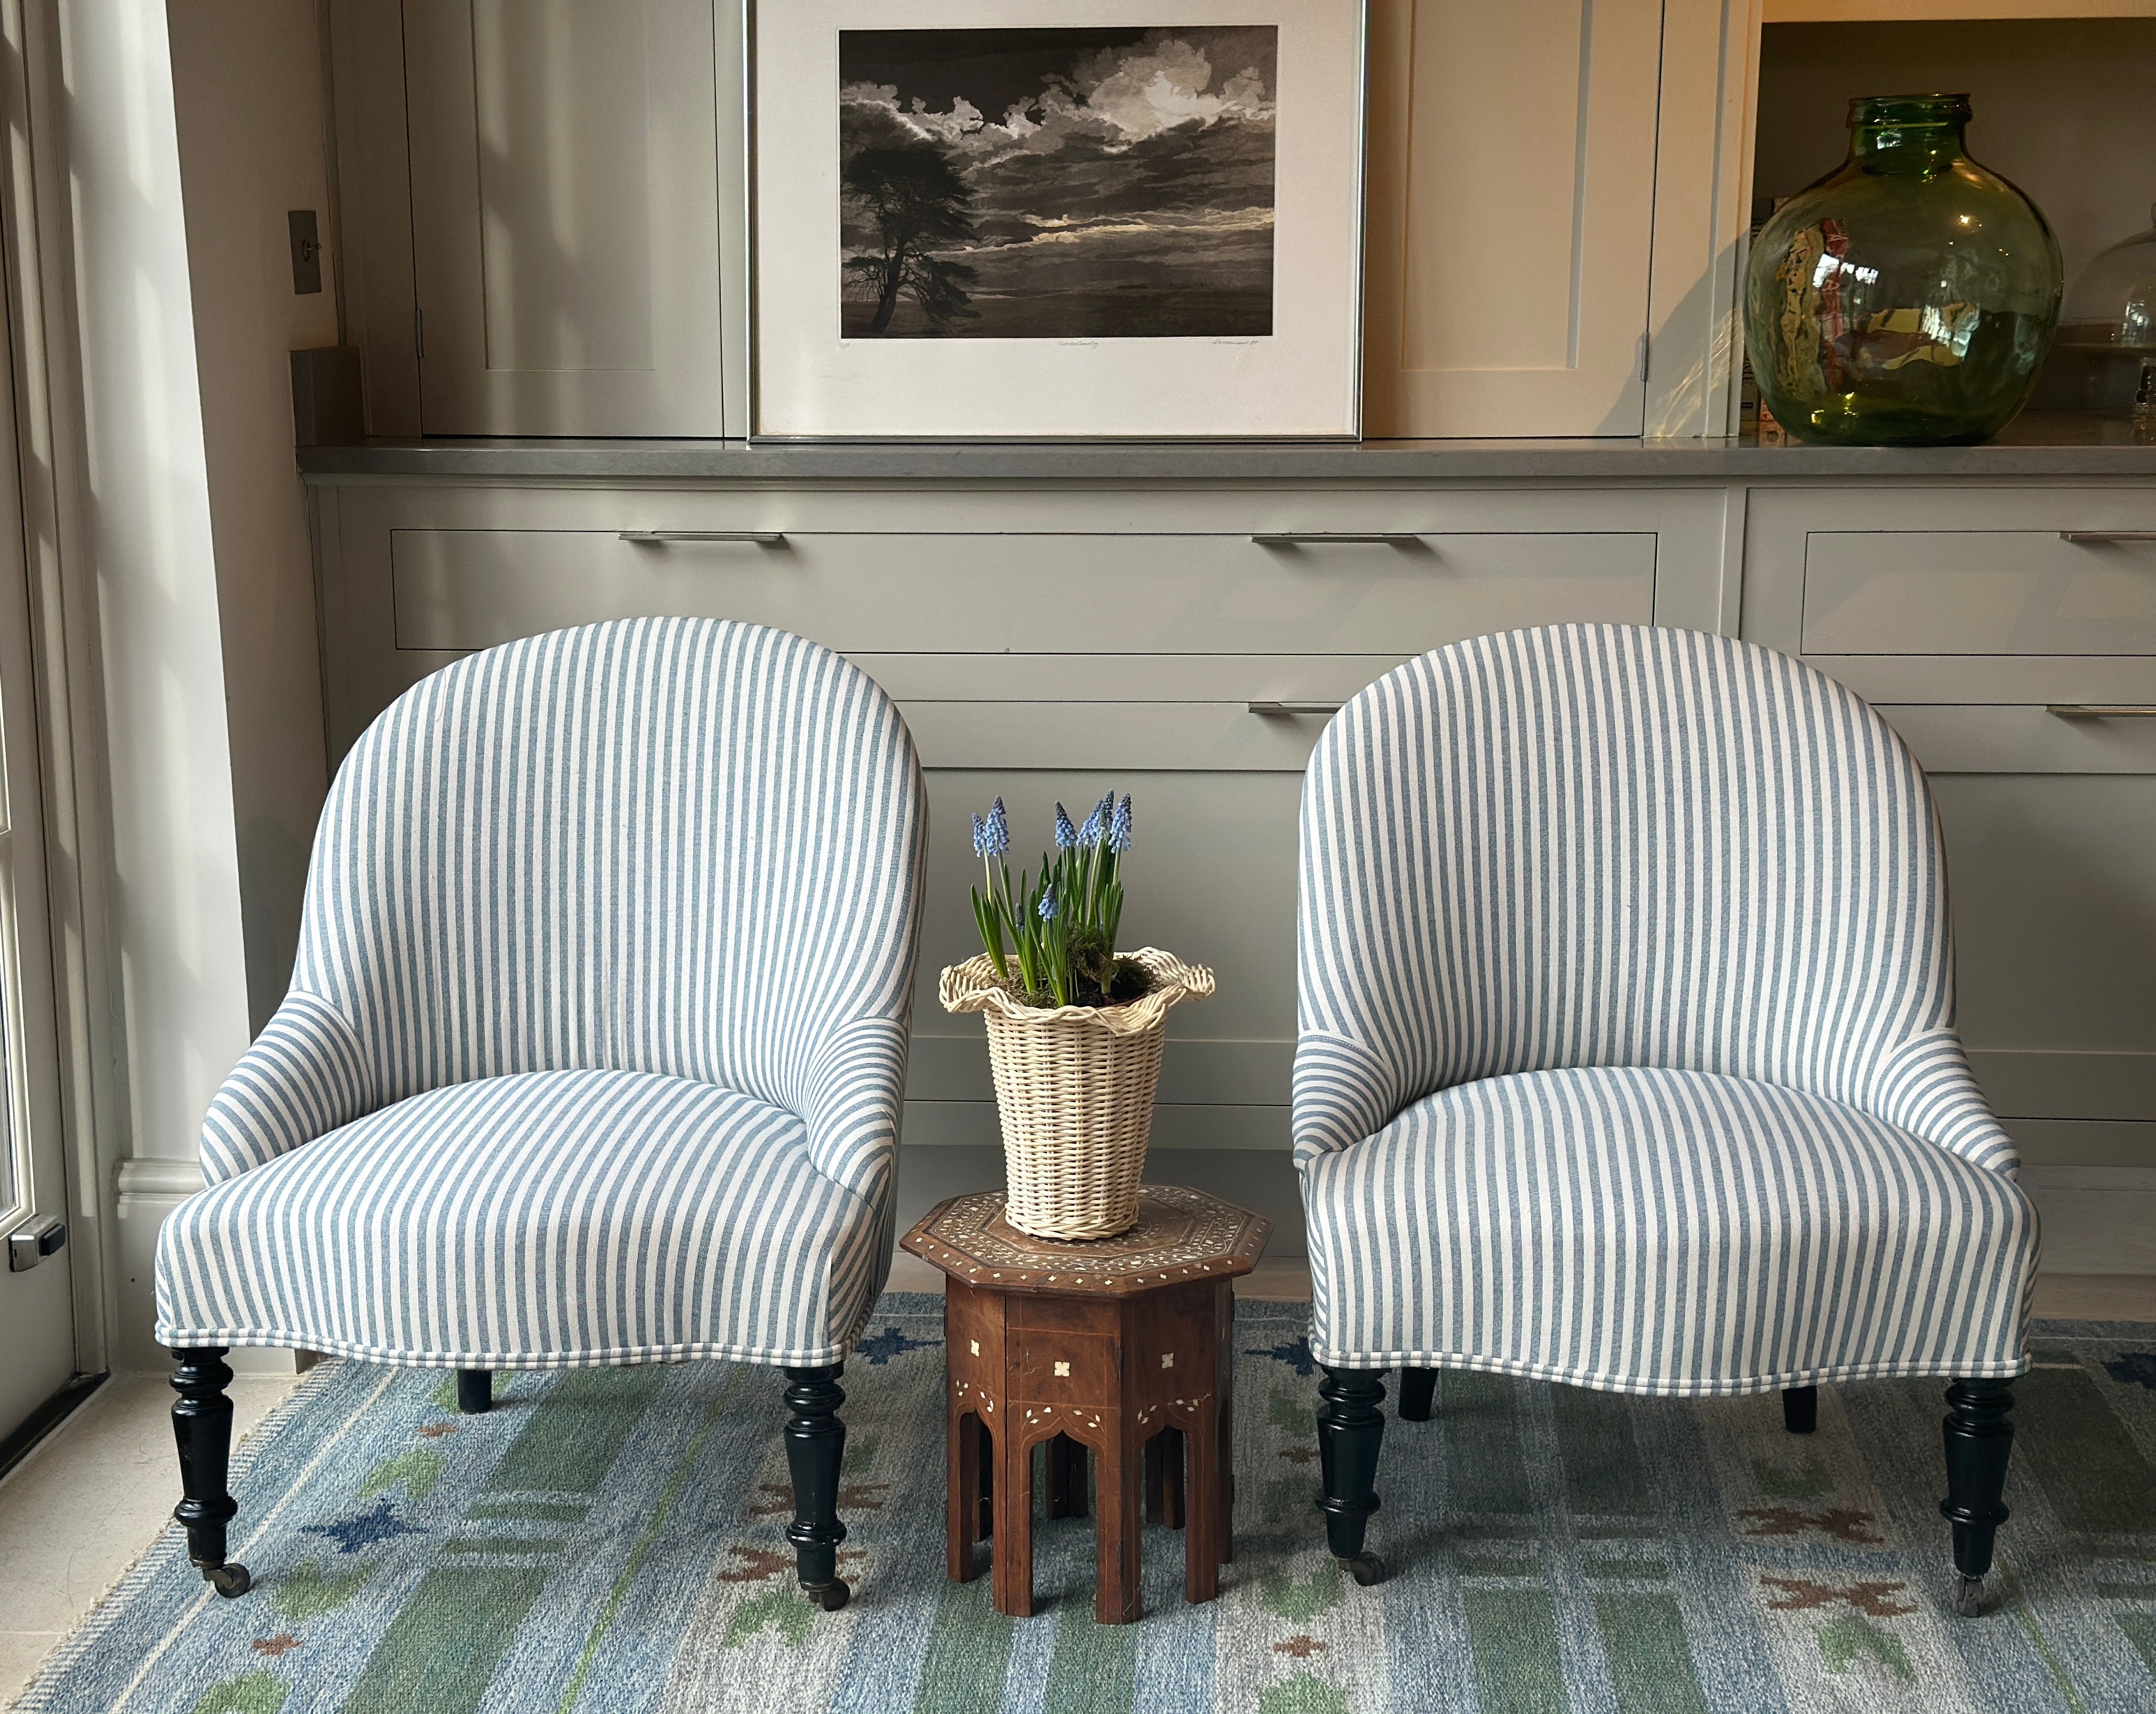
{"type": "Polygon", "coordinates": [[[1744,341],[1796,440],[1988,440],[2029,403],[2059,321],[2059,241],[1968,160],[1966,125],[1966,95],[1861,95],[1850,157],[1753,241],[1744,341]]]}

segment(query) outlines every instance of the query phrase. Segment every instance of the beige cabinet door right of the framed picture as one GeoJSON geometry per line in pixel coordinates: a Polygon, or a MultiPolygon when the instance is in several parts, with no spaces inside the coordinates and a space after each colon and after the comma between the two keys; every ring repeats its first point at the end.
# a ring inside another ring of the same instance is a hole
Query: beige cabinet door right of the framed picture
{"type": "Polygon", "coordinates": [[[1660,0],[1371,6],[1371,436],[1636,436],[1660,0]]]}

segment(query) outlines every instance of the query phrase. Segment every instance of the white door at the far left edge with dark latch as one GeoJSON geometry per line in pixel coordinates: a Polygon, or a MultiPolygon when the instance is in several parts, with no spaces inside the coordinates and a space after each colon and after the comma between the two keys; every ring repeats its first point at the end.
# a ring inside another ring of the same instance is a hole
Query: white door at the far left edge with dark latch
{"type": "Polygon", "coordinates": [[[0,1257],[0,1440],[75,1373],[75,1257],[65,1248],[71,1210],[45,914],[30,578],[15,472],[15,423],[0,405],[0,1248],[6,1250],[0,1257]]]}

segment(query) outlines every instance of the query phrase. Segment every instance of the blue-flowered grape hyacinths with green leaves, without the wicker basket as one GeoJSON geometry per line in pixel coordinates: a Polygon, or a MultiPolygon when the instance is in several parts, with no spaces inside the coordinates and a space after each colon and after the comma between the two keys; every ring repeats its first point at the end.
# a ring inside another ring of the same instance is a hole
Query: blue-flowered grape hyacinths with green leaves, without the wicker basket
{"type": "Polygon", "coordinates": [[[1041,873],[1028,884],[1013,882],[1005,862],[1011,824],[1003,798],[972,817],[972,849],[985,875],[985,888],[972,888],[972,921],[996,977],[1026,1005],[1121,1005],[1151,985],[1145,966],[1115,953],[1130,834],[1128,793],[1121,804],[1112,791],[1093,804],[1082,828],[1056,804],[1054,856],[1041,856],[1041,873]]]}

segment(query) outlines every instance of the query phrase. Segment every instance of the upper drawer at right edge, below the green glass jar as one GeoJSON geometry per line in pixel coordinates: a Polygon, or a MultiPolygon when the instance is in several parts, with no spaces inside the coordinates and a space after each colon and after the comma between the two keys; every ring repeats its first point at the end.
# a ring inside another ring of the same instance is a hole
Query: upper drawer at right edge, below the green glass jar
{"type": "Polygon", "coordinates": [[[1807,655],[2156,655],[2156,533],[1813,530],[1807,655]]]}

